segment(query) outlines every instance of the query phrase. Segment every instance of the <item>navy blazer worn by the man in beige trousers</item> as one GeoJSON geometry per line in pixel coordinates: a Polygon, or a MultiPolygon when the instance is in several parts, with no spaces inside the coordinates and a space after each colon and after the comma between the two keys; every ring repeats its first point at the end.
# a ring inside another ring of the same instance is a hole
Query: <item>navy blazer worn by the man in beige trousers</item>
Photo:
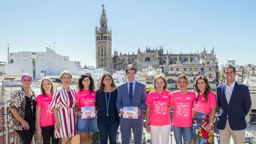
{"type": "Polygon", "coordinates": [[[228,115],[228,123],[232,130],[245,129],[247,127],[245,116],[249,113],[251,106],[249,88],[242,83],[235,82],[229,104],[225,96],[225,84],[218,85],[216,91],[217,105],[220,109],[217,128],[220,130],[225,128],[228,115]]]}

